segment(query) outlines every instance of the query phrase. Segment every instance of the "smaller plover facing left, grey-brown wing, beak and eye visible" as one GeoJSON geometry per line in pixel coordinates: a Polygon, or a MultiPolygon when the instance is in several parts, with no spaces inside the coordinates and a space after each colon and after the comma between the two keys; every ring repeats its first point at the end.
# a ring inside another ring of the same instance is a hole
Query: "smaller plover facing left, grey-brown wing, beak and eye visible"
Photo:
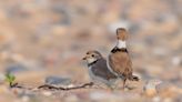
{"type": "Polygon", "coordinates": [[[115,88],[118,76],[110,72],[107,60],[98,51],[88,51],[83,60],[87,61],[89,75],[95,83],[104,83],[110,89],[115,88]]]}

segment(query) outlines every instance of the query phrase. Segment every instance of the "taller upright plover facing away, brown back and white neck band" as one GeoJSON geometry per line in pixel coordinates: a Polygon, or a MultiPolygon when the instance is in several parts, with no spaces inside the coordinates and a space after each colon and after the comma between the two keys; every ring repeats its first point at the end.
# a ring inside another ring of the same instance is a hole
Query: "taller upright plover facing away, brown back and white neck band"
{"type": "Polygon", "coordinates": [[[123,28],[117,29],[118,43],[111,50],[108,57],[108,68],[117,76],[123,80],[123,88],[125,86],[125,81],[139,81],[139,78],[133,75],[132,62],[129,57],[125,40],[128,39],[128,32],[123,28]]]}

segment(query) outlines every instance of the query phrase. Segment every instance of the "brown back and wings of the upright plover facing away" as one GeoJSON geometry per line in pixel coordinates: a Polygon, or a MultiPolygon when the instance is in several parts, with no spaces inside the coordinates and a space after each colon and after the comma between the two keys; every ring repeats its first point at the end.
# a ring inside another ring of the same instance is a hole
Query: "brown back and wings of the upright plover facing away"
{"type": "Polygon", "coordinates": [[[125,52],[112,53],[109,55],[109,64],[111,69],[124,76],[132,75],[132,62],[125,52]]]}

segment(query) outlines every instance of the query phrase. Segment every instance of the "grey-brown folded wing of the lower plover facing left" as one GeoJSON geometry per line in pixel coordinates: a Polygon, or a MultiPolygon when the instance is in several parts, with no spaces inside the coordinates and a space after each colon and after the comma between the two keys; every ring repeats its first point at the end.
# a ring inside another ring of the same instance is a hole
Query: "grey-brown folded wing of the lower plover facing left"
{"type": "Polygon", "coordinates": [[[104,59],[100,59],[93,67],[92,72],[101,76],[105,80],[115,79],[117,76],[110,72],[110,70],[107,67],[107,61],[104,59]]]}

